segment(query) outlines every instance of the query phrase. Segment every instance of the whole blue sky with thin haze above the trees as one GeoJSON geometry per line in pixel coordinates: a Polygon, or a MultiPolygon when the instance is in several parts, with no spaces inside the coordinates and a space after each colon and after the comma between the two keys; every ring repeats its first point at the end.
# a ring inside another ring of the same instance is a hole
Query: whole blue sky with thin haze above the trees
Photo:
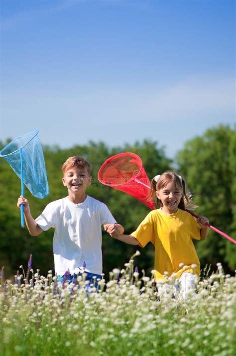
{"type": "Polygon", "coordinates": [[[0,5],[1,141],[33,129],[61,148],[150,139],[173,157],[206,129],[233,127],[235,1],[0,5]]]}

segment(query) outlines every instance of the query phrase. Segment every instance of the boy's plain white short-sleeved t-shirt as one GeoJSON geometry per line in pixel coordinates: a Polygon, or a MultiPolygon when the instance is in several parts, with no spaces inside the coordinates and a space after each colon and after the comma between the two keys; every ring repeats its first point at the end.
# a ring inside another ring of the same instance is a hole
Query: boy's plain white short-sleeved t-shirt
{"type": "Polygon", "coordinates": [[[74,204],[66,197],[49,203],[35,221],[44,231],[55,229],[53,254],[58,276],[84,269],[102,274],[101,226],[116,223],[106,204],[90,196],[74,204]]]}

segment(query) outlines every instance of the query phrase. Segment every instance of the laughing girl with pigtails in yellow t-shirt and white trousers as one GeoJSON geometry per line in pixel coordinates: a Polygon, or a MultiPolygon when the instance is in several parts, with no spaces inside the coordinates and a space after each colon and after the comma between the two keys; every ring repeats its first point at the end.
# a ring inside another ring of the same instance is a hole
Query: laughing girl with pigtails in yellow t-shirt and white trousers
{"type": "MultiPolygon", "coordinates": [[[[118,235],[112,228],[110,235],[131,245],[144,247],[152,242],[155,247],[155,281],[163,283],[168,277],[176,279],[176,289],[185,299],[195,288],[200,262],[192,239],[205,240],[208,219],[194,218],[185,208],[192,196],[186,192],[185,181],[173,172],[155,176],[151,181],[149,198],[155,196],[159,209],[152,210],[131,235],[118,235]]],[[[106,226],[105,226],[106,229],[106,226]]]]}

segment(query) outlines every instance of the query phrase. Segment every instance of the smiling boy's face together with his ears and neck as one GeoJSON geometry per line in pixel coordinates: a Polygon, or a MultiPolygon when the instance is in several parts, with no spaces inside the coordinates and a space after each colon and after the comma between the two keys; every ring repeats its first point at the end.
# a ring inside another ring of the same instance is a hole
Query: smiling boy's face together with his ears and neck
{"type": "Polygon", "coordinates": [[[86,188],[91,183],[91,176],[86,168],[73,166],[64,173],[62,182],[68,188],[69,199],[78,204],[86,198],[86,188]]]}

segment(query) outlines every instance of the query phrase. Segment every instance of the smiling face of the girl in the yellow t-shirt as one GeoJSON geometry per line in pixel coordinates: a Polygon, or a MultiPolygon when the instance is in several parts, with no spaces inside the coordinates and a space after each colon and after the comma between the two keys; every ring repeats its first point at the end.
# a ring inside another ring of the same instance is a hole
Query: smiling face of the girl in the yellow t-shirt
{"type": "Polygon", "coordinates": [[[166,184],[166,186],[156,191],[156,196],[161,200],[163,205],[161,210],[165,214],[176,213],[182,195],[183,189],[177,187],[174,180],[170,181],[166,184]]]}

